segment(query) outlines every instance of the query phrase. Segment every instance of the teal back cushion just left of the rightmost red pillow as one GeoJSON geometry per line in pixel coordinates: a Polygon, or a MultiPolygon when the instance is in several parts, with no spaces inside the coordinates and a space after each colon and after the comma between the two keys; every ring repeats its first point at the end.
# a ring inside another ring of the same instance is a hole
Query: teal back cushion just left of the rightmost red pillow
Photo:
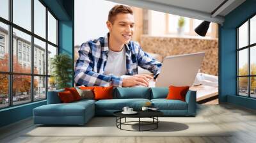
{"type": "Polygon", "coordinates": [[[152,87],[151,99],[166,98],[169,93],[168,87],[152,87]]]}

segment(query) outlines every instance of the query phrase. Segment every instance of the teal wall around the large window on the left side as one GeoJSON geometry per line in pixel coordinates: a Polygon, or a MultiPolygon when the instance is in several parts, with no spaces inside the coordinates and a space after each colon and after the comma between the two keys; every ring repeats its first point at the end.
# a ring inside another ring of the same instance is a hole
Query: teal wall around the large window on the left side
{"type": "MultiPolygon", "coordinates": [[[[52,13],[59,20],[58,51],[66,53],[74,59],[74,0],[42,0],[42,2],[51,9],[52,13]]],[[[74,85],[73,83],[74,80],[70,81],[70,84],[74,85]]],[[[33,109],[45,104],[46,100],[1,109],[0,127],[33,116],[33,109]]]]}

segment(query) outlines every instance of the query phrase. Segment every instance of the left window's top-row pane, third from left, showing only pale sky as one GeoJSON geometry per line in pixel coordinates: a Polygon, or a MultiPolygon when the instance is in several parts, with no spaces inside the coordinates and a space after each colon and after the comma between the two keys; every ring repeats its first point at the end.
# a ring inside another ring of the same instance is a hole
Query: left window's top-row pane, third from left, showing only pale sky
{"type": "Polygon", "coordinates": [[[46,22],[46,15],[45,15],[45,11],[46,8],[45,6],[40,3],[40,1],[35,0],[34,1],[34,24],[35,24],[35,29],[34,32],[35,34],[38,34],[39,36],[42,36],[43,38],[45,38],[45,22],[46,22]]]}

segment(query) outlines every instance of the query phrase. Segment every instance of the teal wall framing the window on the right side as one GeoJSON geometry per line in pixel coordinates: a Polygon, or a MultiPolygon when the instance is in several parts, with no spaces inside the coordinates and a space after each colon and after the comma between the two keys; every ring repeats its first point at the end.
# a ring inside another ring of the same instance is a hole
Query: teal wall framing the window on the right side
{"type": "Polygon", "coordinates": [[[236,95],[236,27],[256,14],[256,0],[247,0],[226,15],[219,26],[219,100],[256,109],[256,100],[236,95]]]}

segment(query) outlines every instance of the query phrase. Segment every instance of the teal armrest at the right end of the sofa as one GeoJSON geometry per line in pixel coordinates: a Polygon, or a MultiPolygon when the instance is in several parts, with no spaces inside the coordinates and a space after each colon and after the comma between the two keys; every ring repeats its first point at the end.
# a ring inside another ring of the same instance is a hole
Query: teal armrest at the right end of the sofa
{"type": "Polygon", "coordinates": [[[188,91],[186,94],[186,103],[188,103],[188,115],[196,115],[196,91],[188,91]]]}

